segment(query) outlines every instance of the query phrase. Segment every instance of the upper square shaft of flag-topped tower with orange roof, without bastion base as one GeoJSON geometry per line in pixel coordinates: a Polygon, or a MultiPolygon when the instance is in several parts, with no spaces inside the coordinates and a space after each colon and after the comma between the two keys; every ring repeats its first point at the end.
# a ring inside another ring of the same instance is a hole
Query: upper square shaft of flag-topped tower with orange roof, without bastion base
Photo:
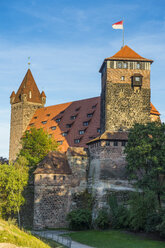
{"type": "Polygon", "coordinates": [[[126,131],[150,121],[150,65],[128,46],[101,66],[101,130],[126,131]]]}

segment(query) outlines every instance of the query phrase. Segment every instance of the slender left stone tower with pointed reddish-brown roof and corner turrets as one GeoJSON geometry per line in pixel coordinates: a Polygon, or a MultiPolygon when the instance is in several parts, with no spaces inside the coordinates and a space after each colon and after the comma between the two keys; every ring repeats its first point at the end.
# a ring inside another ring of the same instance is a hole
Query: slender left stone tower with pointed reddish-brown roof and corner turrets
{"type": "Polygon", "coordinates": [[[36,109],[44,106],[45,93],[40,93],[33,75],[28,69],[17,93],[10,96],[11,123],[9,160],[15,160],[21,148],[20,139],[36,109]]]}

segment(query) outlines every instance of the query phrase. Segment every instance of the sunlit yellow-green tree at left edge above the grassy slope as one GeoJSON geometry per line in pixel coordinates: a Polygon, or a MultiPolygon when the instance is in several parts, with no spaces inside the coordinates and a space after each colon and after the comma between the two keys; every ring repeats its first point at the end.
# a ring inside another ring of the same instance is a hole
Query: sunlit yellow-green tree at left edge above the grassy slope
{"type": "Polygon", "coordinates": [[[25,199],[22,195],[28,183],[28,161],[20,156],[15,164],[0,166],[0,203],[2,216],[17,213],[20,226],[20,208],[25,199]]]}

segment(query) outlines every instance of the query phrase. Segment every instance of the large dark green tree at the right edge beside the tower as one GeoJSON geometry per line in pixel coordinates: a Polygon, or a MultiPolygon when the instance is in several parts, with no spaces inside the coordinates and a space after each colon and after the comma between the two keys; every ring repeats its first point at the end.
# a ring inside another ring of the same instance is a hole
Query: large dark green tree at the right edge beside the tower
{"type": "Polygon", "coordinates": [[[155,192],[161,207],[165,189],[165,124],[135,124],[130,129],[125,153],[129,178],[136,180],[142,190],[155,192]]]}

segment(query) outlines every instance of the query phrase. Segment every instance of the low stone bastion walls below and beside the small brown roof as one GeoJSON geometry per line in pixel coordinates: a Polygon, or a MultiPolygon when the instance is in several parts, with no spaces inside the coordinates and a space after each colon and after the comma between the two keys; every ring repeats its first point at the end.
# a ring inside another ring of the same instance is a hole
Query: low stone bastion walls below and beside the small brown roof
{"type": "Polygon", "coordinates": [[[67,214],[77,207],[75,194],[87,188],[89,159],[83,148],[69,148],[71,175],[36,174],[34,191],[35,229],[67,227],[67,214]]]}

